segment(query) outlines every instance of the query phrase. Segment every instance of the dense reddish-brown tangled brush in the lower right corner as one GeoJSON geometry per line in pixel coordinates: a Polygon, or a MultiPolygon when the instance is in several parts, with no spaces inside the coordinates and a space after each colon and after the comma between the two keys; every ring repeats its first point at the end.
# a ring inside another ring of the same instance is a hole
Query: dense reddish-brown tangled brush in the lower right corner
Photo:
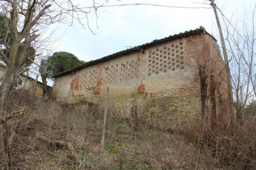
{"type": "Polygon", "coordinates": [[[213,126],[207,122],[202,138],[201,132],[200,126],[194,125],[184,136],[198,147],[202,139],[203,161],[222,169],[256,169],[255,115],[231,124],[216,121],[213,126]]]}

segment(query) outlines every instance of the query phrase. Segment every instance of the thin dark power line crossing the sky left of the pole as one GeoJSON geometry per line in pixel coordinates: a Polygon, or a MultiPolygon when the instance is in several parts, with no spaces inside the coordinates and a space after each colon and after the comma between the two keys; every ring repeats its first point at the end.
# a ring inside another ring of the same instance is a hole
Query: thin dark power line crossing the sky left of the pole
{"type": "Polygon", "coordinates": [[[80,9],[91,9],[91,8],[101,8],[101,7],[122,7],[122,6],[139,6],[139,5],[144,5],[144,6],[156,6],[156,7],[166,7],[166,8],[188,8],[188,9],[211,9],[211,7],[178,7],[178,6],[167,6],[167,5],[157,5],[157,4],[146,4],[146,3],[139,3],[139,4],[120,4],[120,5],[101,5],[101,6],[94,6],[94,7],[84,7],[80,9]]]}

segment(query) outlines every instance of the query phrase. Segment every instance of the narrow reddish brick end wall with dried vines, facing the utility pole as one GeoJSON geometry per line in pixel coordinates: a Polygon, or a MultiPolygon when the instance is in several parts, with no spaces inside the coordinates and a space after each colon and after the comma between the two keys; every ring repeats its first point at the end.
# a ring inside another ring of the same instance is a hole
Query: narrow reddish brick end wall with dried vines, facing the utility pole
{"type": "MultiPolygon", "coordinates": [[[[213,101],[216,102],[216,119],[219,121],[229,118],[229,99],[227,93],[226,69],[218,44],[207,35],[195,35],[186,39],[187,58],[190,60],[189,67],[195,70],[200,65],[205,66],[207,95],[207,113],[212,116],[213,101]],[[194,62],[193,62],[194,61],[194,62]],[[213,90],[213,92],[212,92],[213,90]],[[213,95],[213,96],[212,96],[213,95]]],[[[195,74],[195,81],[200,81],[199,74],[195,74]]],[[[201,85],[201,84],[200,84],[201,85]]]]}

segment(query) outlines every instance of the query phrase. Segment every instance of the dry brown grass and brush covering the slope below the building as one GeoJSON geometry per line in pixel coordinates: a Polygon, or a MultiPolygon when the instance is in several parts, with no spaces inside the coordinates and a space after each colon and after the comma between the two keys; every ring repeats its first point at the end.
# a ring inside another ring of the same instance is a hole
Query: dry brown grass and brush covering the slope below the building
{"type": "MultiPolygon", "coordinates": [[[[16,95],[13,101],[19,100],[20,106],[28,109],[7,124],[12,169],[195,168],[198,125],[169,132],[139,119],[138,129],[133,131],[130,119],[110,112],[101,150],[101,106],[60,106],[23,95],[16,95]]],[[[255,169],[255,130],[253,118],[213,129],[206,125],[199,169],[255,169]]],[[[0,169],[5,169],[4,159],[1,151],[0,169]]]]}

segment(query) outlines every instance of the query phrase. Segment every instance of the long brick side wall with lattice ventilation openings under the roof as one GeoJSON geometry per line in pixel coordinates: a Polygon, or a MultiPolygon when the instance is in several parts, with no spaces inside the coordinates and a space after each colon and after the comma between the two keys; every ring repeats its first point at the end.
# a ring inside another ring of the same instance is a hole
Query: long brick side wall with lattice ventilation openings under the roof
{"type": "Polygon", "coordinates": [[[219,48],[209,35],[176,39],[58,77],[53,96],[65,103],[102,103],[109,87],[117,115],[130,117],[137,105],[139,117],[152,125],[183,127],[201,113],[199,59],[210,58],[210,51],[202,53],[205,44],[218,65],[219,48]]]}

